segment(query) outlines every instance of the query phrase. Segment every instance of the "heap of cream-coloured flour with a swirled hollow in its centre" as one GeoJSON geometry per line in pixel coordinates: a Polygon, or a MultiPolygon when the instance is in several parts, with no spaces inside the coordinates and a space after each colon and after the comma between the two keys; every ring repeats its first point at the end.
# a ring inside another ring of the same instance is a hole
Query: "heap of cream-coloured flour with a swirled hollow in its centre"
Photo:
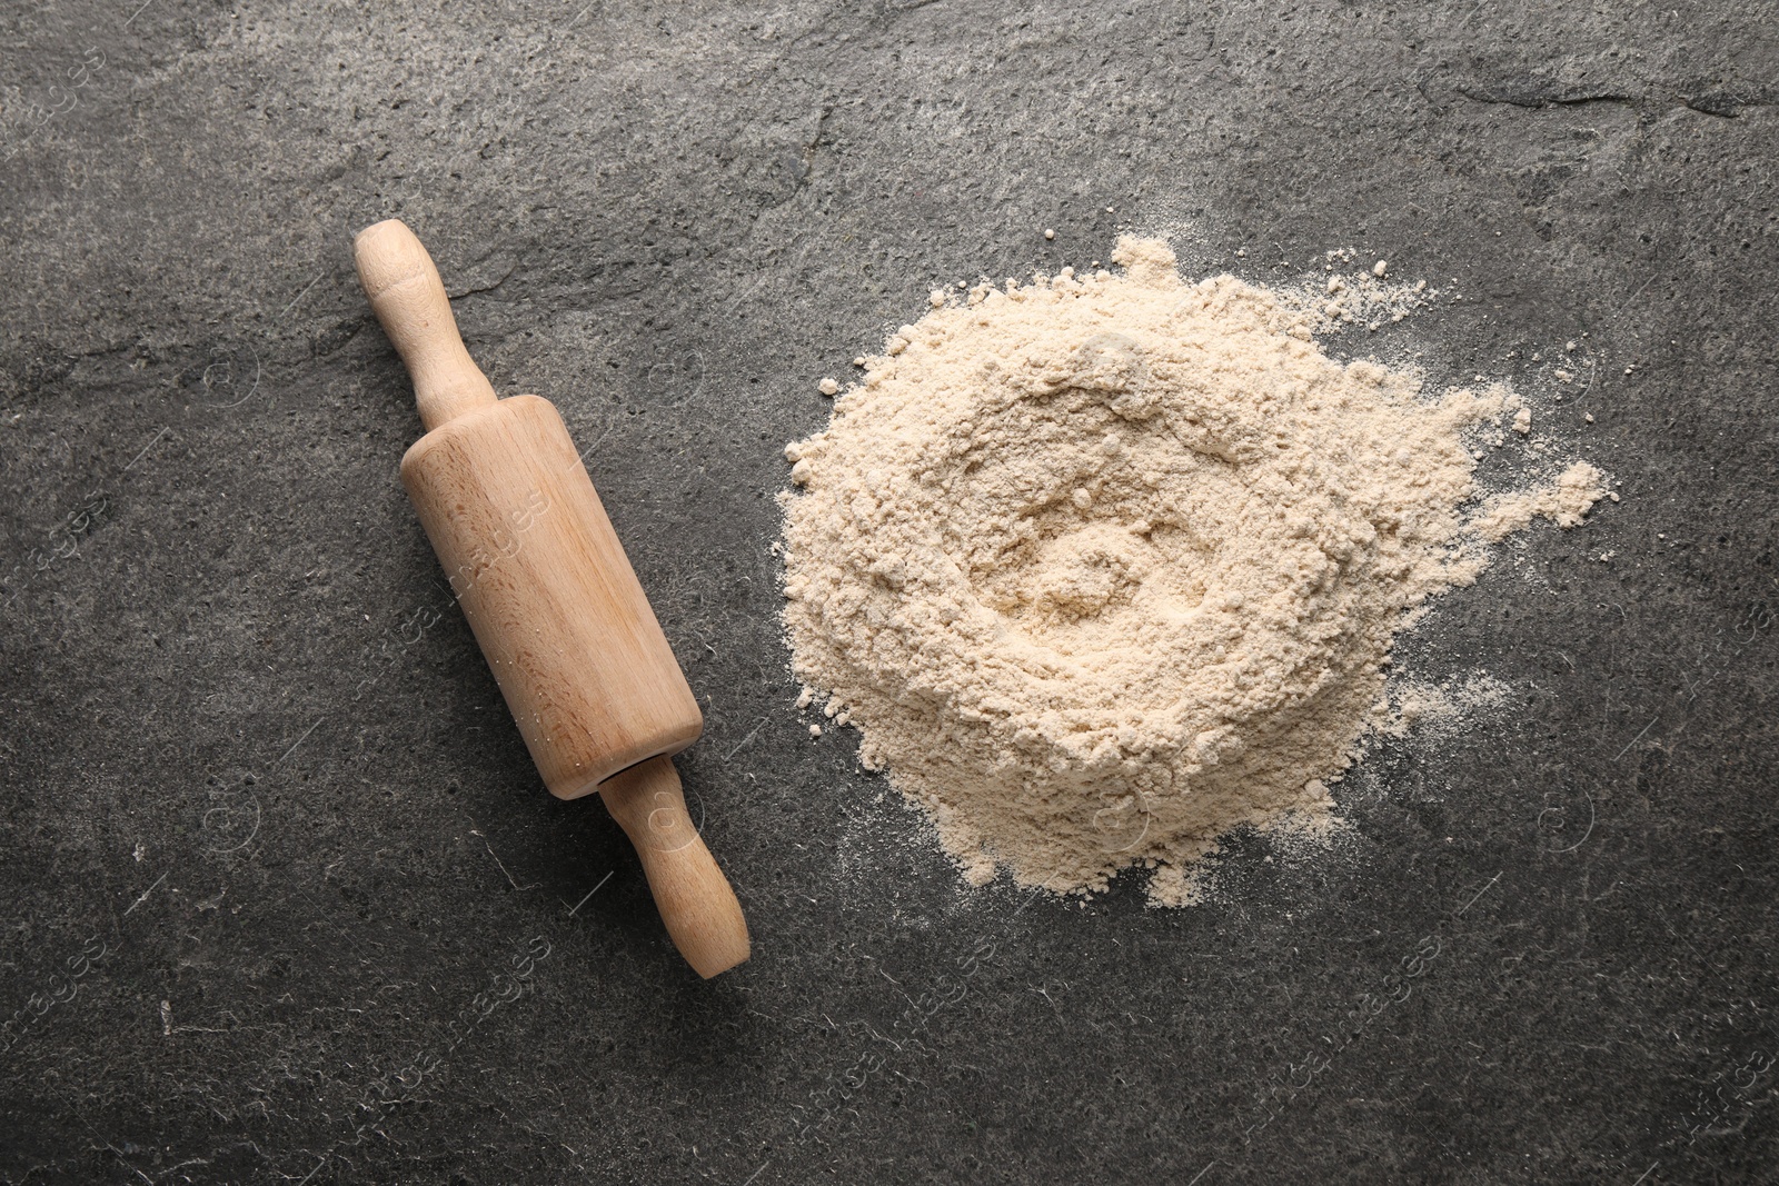
{"type": "Polygon", "coordinates": [[[1429,397],[1322,354],[1325,304],[1185,283],[1160,240],[1112,258],[936,292],[863,359],[785,450],[785,626],[799,704],[863,733],[970,882],[1146,866],[1178,905],[1229,829],[1327,821],[1368,731],[1459,711],[1389,704],[1391,637],[1605,489],[1580,462],[1466,517],[1505,388],[1429,397]]]}

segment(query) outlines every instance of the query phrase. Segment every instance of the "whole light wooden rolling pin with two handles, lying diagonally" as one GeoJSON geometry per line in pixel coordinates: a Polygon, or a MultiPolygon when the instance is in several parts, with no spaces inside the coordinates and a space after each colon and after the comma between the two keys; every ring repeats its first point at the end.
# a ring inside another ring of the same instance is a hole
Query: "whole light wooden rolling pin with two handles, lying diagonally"
{"type": "Polygon", "coordinates": [[[704,717],[568,427],[535,395],[495,398],[413,231],[379,222],[352,254],[427,429],[402,457],[402,484],[532,761],[559,798],[600,791],[697,974],[735,967],[747,921],[687,818],[671,757],[704,717]]]}

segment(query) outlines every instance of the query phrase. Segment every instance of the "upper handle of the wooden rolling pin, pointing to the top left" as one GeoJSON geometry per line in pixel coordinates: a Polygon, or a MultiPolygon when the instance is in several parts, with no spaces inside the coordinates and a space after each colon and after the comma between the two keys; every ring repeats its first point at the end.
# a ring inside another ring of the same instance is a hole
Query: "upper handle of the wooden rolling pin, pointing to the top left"
{"type": "Polygon", "coordinates": [[[495,402],[495,388],[457,336],[457,318],[432,256],[398,219],[352,240],[358,283],[415,381],[427,432],[495,402]]]}

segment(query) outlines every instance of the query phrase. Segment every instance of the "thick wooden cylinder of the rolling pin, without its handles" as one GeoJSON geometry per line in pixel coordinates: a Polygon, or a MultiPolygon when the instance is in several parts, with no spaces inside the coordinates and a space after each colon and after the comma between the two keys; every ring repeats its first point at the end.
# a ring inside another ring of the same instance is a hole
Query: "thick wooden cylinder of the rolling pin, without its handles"
{"type": "Polygon", "coordinates": [[[692,688],[548,400],[434,429],[402,484],[551,795],[697,740],[692,688]]]}

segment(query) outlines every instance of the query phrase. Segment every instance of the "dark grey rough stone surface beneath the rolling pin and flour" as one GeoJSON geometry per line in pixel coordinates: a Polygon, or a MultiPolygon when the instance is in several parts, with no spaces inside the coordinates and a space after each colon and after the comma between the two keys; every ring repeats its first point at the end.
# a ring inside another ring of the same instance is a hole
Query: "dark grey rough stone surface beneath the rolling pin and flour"
{"type": "Polygon", "coordinates": [[[0,1179],[1774,1172],[1770,4],[372,7],[4,18],[0,1179]],[[350,272],[386,215],[592,450],[706,704],[735,974],[448,601],[350,272]],[[769,551],[820,377],[1126,226],[1452,286],[1334,347],[1436,381],[1548,400],[1576,340],[1537,427],[1624,494],[1416,635],[1509,708],[1174,912],[961,887],[790,711],[769,551]]]}

